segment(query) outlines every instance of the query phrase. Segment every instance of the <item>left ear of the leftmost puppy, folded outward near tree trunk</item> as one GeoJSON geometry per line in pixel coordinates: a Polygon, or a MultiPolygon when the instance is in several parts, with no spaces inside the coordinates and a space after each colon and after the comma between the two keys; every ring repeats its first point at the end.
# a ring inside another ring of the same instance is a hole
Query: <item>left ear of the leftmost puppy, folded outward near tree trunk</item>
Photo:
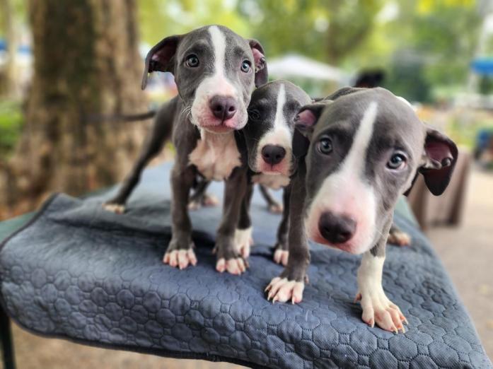
{"type": "Polygon", "coordinates": [[[169,36],[158,42],[146,56],[146,66],[142,76],[142,90],[147,86],[149,73],[153,71],[174,71],[174,58],[181,36],[169,36]]]}

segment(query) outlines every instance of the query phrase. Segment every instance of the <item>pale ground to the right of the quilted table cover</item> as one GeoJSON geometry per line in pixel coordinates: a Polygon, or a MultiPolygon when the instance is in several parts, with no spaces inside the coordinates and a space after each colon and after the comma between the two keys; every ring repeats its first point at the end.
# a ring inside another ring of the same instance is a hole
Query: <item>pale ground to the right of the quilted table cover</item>
{"type": "Polygon", "coordinates": [[[431,243],[493,361],[493,172],[474,168],[458,228],[431,228],[431,243]]]}

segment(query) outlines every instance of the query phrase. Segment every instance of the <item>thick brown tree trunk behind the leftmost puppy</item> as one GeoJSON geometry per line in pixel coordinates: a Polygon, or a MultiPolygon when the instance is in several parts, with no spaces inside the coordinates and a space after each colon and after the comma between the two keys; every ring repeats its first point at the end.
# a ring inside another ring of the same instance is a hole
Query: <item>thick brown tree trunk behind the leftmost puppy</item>
{"type": "Polygon", "coordinates": [[[148,127],[86,119],[147,108],[134,0],[30,0],[29,17],[33,85],[0,189],[0,206],[17,211],[50,192],[78,195],[121,180],[148,127]]]}

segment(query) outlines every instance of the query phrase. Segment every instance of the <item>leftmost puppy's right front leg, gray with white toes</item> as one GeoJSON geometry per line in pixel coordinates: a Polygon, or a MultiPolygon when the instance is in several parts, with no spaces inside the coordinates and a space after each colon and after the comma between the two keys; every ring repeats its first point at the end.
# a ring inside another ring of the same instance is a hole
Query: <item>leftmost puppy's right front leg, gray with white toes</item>
{"type": "Polygon", "coordinates": [[[235,168],[224,185],[224,209],[221,225],[217,230],[216,270],[231,274],[242,274],[247,263],[241,257],[235,244],[235,231],[240,216],[241,203],[247,189],[246,168],[235,168]]]}

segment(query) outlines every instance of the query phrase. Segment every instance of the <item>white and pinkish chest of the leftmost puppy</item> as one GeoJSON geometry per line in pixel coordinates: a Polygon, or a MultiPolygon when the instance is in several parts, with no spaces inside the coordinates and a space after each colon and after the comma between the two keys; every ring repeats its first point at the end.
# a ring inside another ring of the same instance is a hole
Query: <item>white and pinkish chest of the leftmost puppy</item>
{"type": "Polygon", "coordinates": [[[209,134],[202,131],[201,138],[188,159],[207,180],[225,180],[234,168],[241,165],[233,132],[209,134]]]}

